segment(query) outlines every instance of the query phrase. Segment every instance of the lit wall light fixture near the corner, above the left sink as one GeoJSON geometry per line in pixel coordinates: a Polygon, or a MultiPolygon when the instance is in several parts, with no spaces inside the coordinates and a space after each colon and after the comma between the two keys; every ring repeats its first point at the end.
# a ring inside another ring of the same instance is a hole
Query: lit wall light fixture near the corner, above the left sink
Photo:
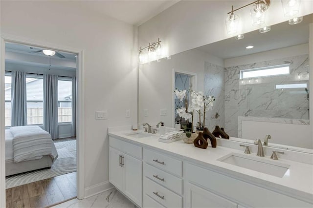
{"type": "Polygon", "coordinates": [[[150,44],[148,43],[148,46],[142,48],[140,46],[139,50],[139,62],[140,64],[146,63],[146,62],[153,62],[157,61],[160,62],[160,58],[162,56],[162,50],[161,50],[161,43],[160,39],[157,40],[157,42],[154,42],[150,44]]]}

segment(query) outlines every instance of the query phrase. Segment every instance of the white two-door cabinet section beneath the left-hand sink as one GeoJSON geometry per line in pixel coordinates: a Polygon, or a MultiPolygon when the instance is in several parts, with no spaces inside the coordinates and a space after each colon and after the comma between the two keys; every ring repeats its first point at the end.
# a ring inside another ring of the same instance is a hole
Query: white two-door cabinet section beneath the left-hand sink
{"type": "Polygon", "coordinates": [[[142,207],[142,147],[110,137],[110,183],[142,207]]]}

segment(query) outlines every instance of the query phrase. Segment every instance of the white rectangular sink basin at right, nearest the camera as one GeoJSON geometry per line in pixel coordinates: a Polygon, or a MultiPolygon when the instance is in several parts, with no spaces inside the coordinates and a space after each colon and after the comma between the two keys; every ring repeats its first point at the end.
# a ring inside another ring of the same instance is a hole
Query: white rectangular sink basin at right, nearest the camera
{"type": "Polygon", "coordinates": [[[219,158],[218,161],[280,178],[282,178],[286,173],[289,174],[288,169],[290,167],[290,165],[279,163],[277,161],[268,161],[264,160],[264,158],[255,158],[249,155],[241,155],[237,153],[225,155],[224,157],[219,158]]]}

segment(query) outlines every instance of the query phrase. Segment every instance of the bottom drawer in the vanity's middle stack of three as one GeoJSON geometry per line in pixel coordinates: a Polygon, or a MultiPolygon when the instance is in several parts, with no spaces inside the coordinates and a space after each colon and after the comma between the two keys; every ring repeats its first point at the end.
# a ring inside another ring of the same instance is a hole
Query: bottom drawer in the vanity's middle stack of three
{"type": "Polygon", "coordinates": [[[143,181],[144,193],[168,208],[182,208],[182,197],[169,189],[158,185],[149,178],[143,181]]]}

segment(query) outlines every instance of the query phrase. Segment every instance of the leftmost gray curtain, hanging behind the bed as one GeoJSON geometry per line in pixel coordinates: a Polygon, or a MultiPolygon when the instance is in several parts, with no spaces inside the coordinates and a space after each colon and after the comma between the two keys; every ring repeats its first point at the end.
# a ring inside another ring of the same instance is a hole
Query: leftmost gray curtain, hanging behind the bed
{"type": "Polygon", "coordinates": [[[26,73],[12,71],[11,126],[27,125],[26,73]]]}

